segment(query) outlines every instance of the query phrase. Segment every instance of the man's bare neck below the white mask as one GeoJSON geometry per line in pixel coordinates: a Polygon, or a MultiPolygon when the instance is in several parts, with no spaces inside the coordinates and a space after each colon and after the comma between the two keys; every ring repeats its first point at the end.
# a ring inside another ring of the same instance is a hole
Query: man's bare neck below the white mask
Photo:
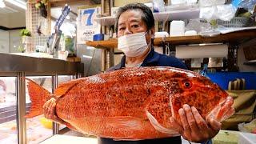
{"type": "Polygon", "coordinates": [[[146,56],[150,53],[150,50],[151,50],[151,46],[149,46],[149,48],[142,55],[139,55],[138,57],[127,57],[126,56],[126,64],[132,65],[132,64],[142,63],[144,61],[144,59],[146,58],[146,56]]]}

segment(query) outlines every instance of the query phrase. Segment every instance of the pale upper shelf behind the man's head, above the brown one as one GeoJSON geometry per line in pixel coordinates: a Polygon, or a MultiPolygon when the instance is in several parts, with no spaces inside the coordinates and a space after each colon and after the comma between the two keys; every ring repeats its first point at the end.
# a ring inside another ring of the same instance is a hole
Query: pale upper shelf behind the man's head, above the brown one
{"type": "MultiPolygon", "coordinates": [[[[182,20],[182,19],[194,19],[199,18],[200,10],[198,8],[191,8],[188,10],[174,10],[165,11],[161,13],[154,13],[155,21],[170,21],[170,20],[182,20]]],[[[101,26],[112,26],[115,24],[116,17],[108,16],[102,18],[94,18],[94,21],[101,24],[101,26]]]]}

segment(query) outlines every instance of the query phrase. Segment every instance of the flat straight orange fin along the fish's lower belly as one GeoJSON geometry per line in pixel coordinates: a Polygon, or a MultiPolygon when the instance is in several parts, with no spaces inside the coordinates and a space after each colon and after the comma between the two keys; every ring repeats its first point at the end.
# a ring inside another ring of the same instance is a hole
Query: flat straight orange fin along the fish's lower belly
{"type": "Polygon", "coordinates": [[[107,122],[110,126],[117,126],[126,130],[142,130],[142,118],[134,118],[130,116],[109,117],[107,122]]]}

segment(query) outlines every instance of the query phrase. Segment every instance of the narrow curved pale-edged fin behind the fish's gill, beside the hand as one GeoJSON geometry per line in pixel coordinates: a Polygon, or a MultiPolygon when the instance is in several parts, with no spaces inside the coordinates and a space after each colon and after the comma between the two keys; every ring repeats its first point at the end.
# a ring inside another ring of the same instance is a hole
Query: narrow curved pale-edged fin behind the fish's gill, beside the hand
{"type": "Polygon", "coordinates": [[[161,126],[161,124],[158,122],[158,120],[156,118],[154,118],[154,116],[152,114],[150,114],[149,111],[146,111],[146,116],[147,116],[147,118],[149,118],[150,123],[152,126],[154,126],[155,130],[158,130],[164,134],[177,134],[177,131],[170,130],[170,129],[167,129],[167,128],[161,126]]]}

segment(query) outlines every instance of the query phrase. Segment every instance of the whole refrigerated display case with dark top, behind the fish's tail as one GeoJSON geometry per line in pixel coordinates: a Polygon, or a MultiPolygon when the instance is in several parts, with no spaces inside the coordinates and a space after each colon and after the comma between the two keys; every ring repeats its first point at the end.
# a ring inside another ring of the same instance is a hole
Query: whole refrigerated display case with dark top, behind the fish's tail
{"type": "Polygon", "coordinates": [[[25,118],[30,110],[26,79],[54,92],[59,83],[83,76],[83,64],[53,58],[0,54],[0,143],[38,143],[58,134],[65,126],[43,115],[25,118]]]}

